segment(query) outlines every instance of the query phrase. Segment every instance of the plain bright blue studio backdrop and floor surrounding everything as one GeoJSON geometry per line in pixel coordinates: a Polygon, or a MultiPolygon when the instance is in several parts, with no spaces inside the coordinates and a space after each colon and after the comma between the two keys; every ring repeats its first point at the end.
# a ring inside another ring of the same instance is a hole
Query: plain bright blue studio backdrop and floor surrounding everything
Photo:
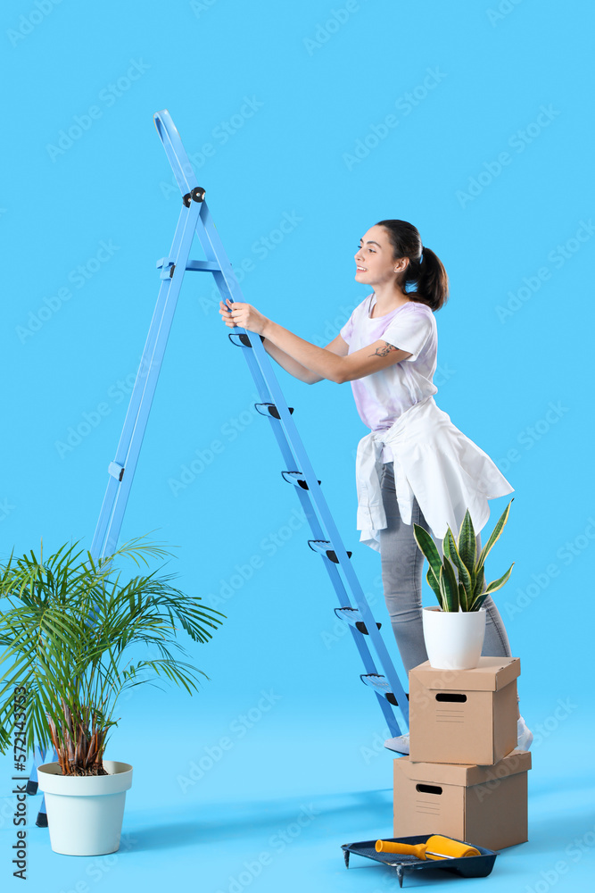
{"type": "MultiPolygon", "coordinates": [[[[313,343],[332,340],[368,294],[353,281],[363,232],[385,217],[412,221],[450,276],[437,403],[516,489],[491,574],[516,562],[497,604],[536,735],[531,841],[500,855],[489,883],[586,889],[591,4],[29,0],[4,4],[2,20],[3,554],[42,536],[45,549],[90,545],[153,313],[155,261],[178,219],[155,111],[169,109],[194,156],[236,270],[252,260],[245,299],[313,343]],[[293,230],[269,249],[262,239],[284,215],[293,230]],[[111,247],[96,262],[102,243],[111,247]],[[583,848],[567,849],[576,840],[583,848]]],[[[121,538],[153,531],[176,547],[179,585],[227,614],[208,646],[191,649],[211,681],[192,699],[145,687],[121,702],[107,755],[134,764],[135,780],[120,853],[55,855],[32,827],[29,889],[395,883],[375,866],[343,867],[342,843],[391,830],[392,759],[310,531],[293,520],[287,536],[299,503],[214,295],[211,277],[186,278],[121,538]],[[193,462],[194,480],[183,478],[193,462]],[[262,567],[226,589],[255,555],[262,567]],[[201,760],[202,777],[180,781],[201,760]],[[301,815],[310,819],[298,826],[301,815]]],[[[379,556],[355,530],[366,429],[351,388],[306,387],[276,369],[386,622],[379,556]]],[[[492,521],[505,504],[492,503],[492,521]]],[[[10,886],[14,801],[11,764],[1,766],[10,886]]],[[[29,810],[32,822],[37,800],[29,810]]]]}

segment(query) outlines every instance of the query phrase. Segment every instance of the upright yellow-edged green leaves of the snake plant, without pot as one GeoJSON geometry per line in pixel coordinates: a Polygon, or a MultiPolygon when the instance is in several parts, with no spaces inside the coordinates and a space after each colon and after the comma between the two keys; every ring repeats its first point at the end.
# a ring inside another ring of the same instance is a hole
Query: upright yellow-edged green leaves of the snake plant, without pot
{"type": "Polygon", "coordinates": [[[438,604],[442,611],[479,611],[485,599],[500,587],[504,586],[514,562],[508,571],[499,580],[492,580],[485,585],[485,572],[483,565],[492,546],[498,538],[504,525],[508,521],[508,512],[511,499],[498,522],[492,530],[492,535],[483,547],[479,557],[477,556],[477,540],[469,510],[459,530],[459,539],[455,541],[450,527],[442,541],[443,558],[441,560],[433,538],[423,527],[413,525],[413,533],[417,546],[426,556],[429,568],[426,580],[434,589],[438,604]]]}

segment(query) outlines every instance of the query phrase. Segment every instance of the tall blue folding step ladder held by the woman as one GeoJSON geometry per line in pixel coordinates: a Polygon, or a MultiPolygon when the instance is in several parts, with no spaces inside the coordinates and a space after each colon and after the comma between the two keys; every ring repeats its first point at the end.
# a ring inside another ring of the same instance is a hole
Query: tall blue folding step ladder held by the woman
{"type": "MultiPolygon", "coordinates": [[[[227,298],[232,302],[244,302],[236,274],[204,200],[204,189],[197,185],[178,130],[166,109],[155,113],[153,117],[183,196],[182,208],[169,255],[157,262],[161,287],[130,396],[120,443],[113,461],[108,466],[108,484],[90,548],[95,561],[105,555],[112,555],[118,545],[120,528],[185,272],[212,273],[224,302],[227,298]],[[189,259],[194,234],[201,243],[206,257],[204,261],[189,259]]],[[[374,620],[363,589],[351,566],[351,552],[345,551],[333,516],[326,505],[320,481],[314,473],[293,421],[293,407],[285,402],[260,335],[254,335],[238,327],[236,331],[230,332],[228,337],[232,344],[242,349],[252,372],[260,397],[260,403],[255,404],[255,408],[270,422],[285,463],[286,470],[281,474],[284,480],[295,488],[310,523],[312,538],[308,540],[308,546],[322,557],[326,572],[335,588],[340,605],[335,608],[335,613],[349,625],[366,671],[361,674],[360,679],[373,689],[391,735],[393,737],[401,735],[401,727],[397,722],[394,708],[398,707],[401,722],[407,727],[408,696],[384,645],[379,631],[381,624],[374,620]],[[339,568],[343,572],[344,582],[339,568]],[[374,647],[378,667],[382,672],[378,670],[368,642],[374,647]]],[[[29,793],[37,792],[37,765],[43,762],[43,757],[41,753],[34,755],[29,793]]],[[[53,759],[57,759],[55,752],[53,759]]],[[[45,826],[46,823],[45,807],[42,804],[37,824],[45,826]]]]}

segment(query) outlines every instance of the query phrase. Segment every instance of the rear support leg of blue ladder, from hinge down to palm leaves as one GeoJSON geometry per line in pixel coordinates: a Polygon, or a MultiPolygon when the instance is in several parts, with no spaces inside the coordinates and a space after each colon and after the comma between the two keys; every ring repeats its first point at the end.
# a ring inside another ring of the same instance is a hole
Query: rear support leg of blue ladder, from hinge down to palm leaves
{"type": "Polygon", "coordinates": [[[199,211],[199,205],[194,202],[187,209],[186,224],[182,232],[178,252],[175,255],[176,266],[174,274],[169,280],[169,286],[167,280],[164,280],[166,282],[166,288],[168,288],[167,300],[161,317],[159,332],[155,339],[151,364],[145,378],[145,388],[143,389],[141,400],[138,405],[138,412],[136,413],[136,419],[134,420],[133,430],[129,438],[128,452],[126,456],[120,455],[119,457],[120,464],[124,465],[125,472],[122,480],[120,480],[120,486],[113,506],[112,517],[106,527],[105,540],[100,553],[101,555],[112,554],[117,547],[118,538],[120,537],[124,512],[126,511],[126,506],[128,504],[128,495],[134,480],[136,463],[145,436],[146,425],[153,404],[153,396],[155,388],[157,387],[157,381],[159,380],[163,355],[169,338],[169,330],[171,329],[171,323],[178,304],[178,295],[186,272],[186,260],[192,247],[194,227],[196,226],[199,211]]]}

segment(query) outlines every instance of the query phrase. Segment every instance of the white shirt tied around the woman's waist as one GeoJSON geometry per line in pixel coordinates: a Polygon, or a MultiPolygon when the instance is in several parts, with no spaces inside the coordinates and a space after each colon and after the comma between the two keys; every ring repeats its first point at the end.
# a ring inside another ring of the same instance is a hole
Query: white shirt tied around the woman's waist
{"type": "Polygon", "coordinates": [[[380,489],[382,451],[393,451],[394,483],[404,523],[411,523],[414,497],[434,538],[447,527],[455,537],[467,508],[475,531],[490,517],[488,499],[513,492],[489,455],[459,431],[434,397],[413,405],[393,426],[361,438],[355,463],[360,542],[380,551],[379,531],[387,526],[380,489]]]}

